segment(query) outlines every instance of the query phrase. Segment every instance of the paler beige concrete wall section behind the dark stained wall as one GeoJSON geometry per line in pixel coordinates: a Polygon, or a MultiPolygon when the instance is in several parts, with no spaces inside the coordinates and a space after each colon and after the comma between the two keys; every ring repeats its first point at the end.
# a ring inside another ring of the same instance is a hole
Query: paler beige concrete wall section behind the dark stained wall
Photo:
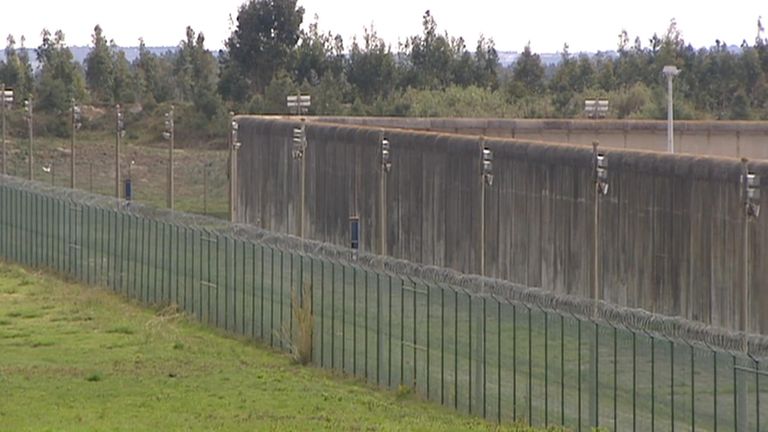
{"type": "MultiPolygon", "coordinates": [[[[667,151],[667,122],[645,120],[520,120],[319,117],[322,122],[667,151]]],[[[675,152],[768,159],[768,122],[675,121],[675,152]]]]}

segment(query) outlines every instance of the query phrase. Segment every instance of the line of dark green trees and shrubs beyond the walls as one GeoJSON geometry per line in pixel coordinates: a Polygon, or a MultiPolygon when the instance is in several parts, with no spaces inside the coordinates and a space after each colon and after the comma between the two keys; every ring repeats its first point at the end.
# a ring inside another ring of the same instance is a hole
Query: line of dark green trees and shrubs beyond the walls
{"type": "Polygon", "coordinates": [[[622,31],[609,53],[574,55],[565,44],[555,65],[545,65],[529,43],[503,67],[492,38],[469,47],[440,31],[429,11],[421,33],[394,48],[372,26],[349,45],[321,30],[317,18],[303,30],[304,14],[297,0],[249,0],[218,52],[187,27],[178,49],[162,55],[140,40],[132,62],[98,25],[83,64],[63,32],[43,30],[36,70],[8,36],[0,82],[19,100],[32,97],[56,134],[67,133],[65,120],[56,119],[74,100],[138,106],[140,118],[174,103],[191,129],[213,135],[226,127],[228,112],[284,113],[285,96],[296,92],[312,95],[318,115],[566,118],[582,115],[584,99],[607,98],[612,117],[664,118],[661,70],[675,65],[683,71],[675,81],[677,118],[768,119],[768,39],[759,19],[754,43],[738,49],[721,40],[696,49],[672,20],[645,44],[622,31]]]}

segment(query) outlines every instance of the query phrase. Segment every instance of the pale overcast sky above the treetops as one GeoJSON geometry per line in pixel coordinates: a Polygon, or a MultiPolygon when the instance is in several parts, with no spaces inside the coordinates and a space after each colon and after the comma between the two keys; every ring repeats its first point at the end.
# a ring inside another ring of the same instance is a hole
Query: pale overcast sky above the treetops
{"type": "MultiPolygon", "coordinates": [[[[95,24],[121,46],[135,46],[143,37],[149,46],[177,45],[191,25],[206,36],[209,49],[218,49],[231,32],[230,17],[237,16],[243,0],[3,0],[0,34],[27,37],[27,46],[40,43],[40,31],[61,29],[68,45],[90,45],[95,24]]],[[[567,42],[571,52],[616,49],[618,34],[626,29],[643,44],[663,33],[675,18],[683,38],[695,47],[711,46],[715,39],[754,43],[757,19],[765,17],[768,1],[726,2],[634,0],[515,1],[472,0],[300,0],[307,23],[319,16],[322,30],[344,36],[349,47],[353,35],[371,24],[387,42],[421,32],[421,16],[432,11],[440,31],[462,36],[474,48],[480,34],[496,41],[499,50],[520,51],[528,43],[536,52],[558,52],[567,42]]],[[[4,43],[3,43],[4,45],[4,43]]]]}

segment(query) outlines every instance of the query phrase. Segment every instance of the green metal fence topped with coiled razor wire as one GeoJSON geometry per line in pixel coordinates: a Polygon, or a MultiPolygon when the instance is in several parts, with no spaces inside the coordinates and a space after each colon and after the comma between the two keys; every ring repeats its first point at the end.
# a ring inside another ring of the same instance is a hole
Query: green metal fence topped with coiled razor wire
{"type": "Polygon", "coordinates": [[[0,256],[489,420],[768,424],[761,336],[1,176],[0,256]]]}

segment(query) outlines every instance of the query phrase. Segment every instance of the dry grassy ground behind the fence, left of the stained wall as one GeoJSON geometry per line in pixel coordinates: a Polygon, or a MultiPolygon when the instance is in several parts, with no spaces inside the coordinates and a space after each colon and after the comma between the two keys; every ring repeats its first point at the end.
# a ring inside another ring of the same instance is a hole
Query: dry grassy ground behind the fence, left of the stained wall
{"type": "MultiPolygon", "coordinates": [[[[183,144],[183,143],[180,143],[183,144]]],[[[156,207],[166,206],[168,173],[167,142],[121,144],[121,178],[133,180],[133,199],[156,207]]],[[[69,187],[70,141],[39,137],[35,140],[33,175],[36,180],[69,187]],[[45,171],[43,169],[46,169],[45,171]]],[[[76,188],[94,193],[115,194],[114,136],[83,133],[77,137],[76,188]]],[[[8,174],[27,178],[27,141],[11,137],[8,142],[8,174]]],[[[228,212],[227,152],[207,148],[177,148],[174,152],[175,205],[177,210],[207,213],[226,218],[228,212]]],[[[121,186],[122,188],[122,186],[121,186]]],[[[121,194],[122,194],[121,189],[121,194]]]]}

